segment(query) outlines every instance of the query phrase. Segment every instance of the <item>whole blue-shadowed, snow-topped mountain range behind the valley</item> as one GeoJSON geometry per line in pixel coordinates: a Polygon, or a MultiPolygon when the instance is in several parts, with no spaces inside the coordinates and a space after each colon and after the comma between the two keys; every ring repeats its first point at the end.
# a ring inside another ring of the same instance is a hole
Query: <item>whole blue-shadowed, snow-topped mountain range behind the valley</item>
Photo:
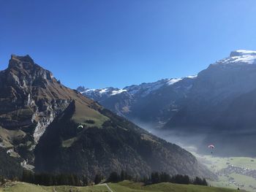
{"type": "Polygon", "coordinates": [[[256,155],[256,51],[233,51],[195,76],[78,91],[139,125],[200,132],[203,147],[214,142],[222,154],[256,155]]]}

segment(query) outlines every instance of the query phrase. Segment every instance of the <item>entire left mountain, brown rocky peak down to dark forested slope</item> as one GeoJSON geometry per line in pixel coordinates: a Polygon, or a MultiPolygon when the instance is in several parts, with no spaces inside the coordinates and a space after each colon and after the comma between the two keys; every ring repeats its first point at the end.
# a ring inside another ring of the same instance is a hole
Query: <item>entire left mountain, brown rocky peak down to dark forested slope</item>
{"type": "Polygon", "coordinates": [[[19,177],[22,168],[89,178],[122,169],[211,177],[191,153],[65,87],[29,55],[12,55],[0,72],[0,174],[19,177]]]}

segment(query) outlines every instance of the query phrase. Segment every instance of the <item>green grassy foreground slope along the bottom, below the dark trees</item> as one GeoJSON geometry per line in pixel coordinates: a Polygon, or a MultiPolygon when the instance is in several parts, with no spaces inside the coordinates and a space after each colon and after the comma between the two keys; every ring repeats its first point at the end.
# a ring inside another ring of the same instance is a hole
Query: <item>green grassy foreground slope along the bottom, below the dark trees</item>
{"type": "MultiPolygon", "coordinates": [[[[9,183],[12,185],[7,188],[1,188],[0,192],[52,192],[55,188],[58,192],[108,192],[108,189],[104,185],[94,185],[88,187],[73,187],[73,186],[39,186],[29,183],[9,183]]],[[[110,188],[114,192],[233,192],[236,190],[227,188],[212,188],[199,185],[177,185],[172,183],[159,183],[155,185],[143,186],[141,183],[132,183],[124,181],[121,183],[108,183],[110,188]]]]}

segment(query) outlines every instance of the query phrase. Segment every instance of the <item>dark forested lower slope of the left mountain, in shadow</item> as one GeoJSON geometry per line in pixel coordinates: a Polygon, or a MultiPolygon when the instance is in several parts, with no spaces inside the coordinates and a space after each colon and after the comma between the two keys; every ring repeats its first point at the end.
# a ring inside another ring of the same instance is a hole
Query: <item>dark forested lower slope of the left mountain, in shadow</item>
{"type": "Polygon", "coordinates": [[[121,169],[135,175],[150,174],[153,170],[203,174],[203,169],[185,150],[148,134],[108,110],[101,111],[110,119],[102,128],[77,130],[78,124],[67,115],[75,110],[76,104],[70,104],[64,116],[53,121],[42,136],[36,148],[37,171],[75,171],[90,177],[97,172],[108,175],[121,169]]]}

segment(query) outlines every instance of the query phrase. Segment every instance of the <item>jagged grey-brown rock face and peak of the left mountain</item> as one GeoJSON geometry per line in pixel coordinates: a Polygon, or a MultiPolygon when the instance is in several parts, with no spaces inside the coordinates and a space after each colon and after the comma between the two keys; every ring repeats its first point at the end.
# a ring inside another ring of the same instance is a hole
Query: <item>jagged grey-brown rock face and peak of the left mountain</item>
{"type": "Polygon", "coordinates": [[[29,55],[12,55],[8,68],[0,72],[0,126],[26,134],[18,143],[9,140],[5,147],[13,147],[15,153],[34,164],[33,151],[39,138],[72,101],[66,90],[29,55]]]}

